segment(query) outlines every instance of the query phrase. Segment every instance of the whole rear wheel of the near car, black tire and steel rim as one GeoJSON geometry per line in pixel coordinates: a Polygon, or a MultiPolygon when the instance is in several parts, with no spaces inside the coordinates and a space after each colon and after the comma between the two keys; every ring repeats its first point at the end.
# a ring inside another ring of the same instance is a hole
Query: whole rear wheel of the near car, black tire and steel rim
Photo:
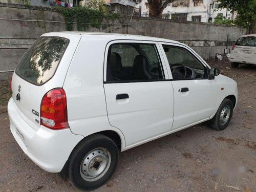
{"type": "Polygon", "coordinates": [[[80,190],[98,188],[113,175],[118,156],[118,148],[109,137],[100,134],[89,136],[73,150],[68,178],[80,190]]]}

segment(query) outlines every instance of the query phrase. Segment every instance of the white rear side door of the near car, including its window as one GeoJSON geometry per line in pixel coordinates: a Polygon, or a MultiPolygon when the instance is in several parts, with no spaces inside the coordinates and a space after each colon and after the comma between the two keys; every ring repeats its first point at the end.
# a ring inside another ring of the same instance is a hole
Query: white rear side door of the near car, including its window
{"type": "Polygon", "coordinates": [[[124,134],[126,148],[170,132],[174,95],[159,45],[116,40],[106,47],[104,91],[109,122],[124,134]]]}

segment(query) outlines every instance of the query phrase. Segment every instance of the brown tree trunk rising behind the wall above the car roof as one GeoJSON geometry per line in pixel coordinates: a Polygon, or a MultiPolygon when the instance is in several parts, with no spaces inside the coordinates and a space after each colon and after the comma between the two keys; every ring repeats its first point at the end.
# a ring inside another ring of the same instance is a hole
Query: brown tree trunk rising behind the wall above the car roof
{"type": "Polygon", "coordinates": [[[150,8],[149,17],[162,18],[163,10],[167,7],[169,3],[173,3],[174,0],[166,0],[162,4],[162,0],[147,0],[148,7],[150,8]]]}

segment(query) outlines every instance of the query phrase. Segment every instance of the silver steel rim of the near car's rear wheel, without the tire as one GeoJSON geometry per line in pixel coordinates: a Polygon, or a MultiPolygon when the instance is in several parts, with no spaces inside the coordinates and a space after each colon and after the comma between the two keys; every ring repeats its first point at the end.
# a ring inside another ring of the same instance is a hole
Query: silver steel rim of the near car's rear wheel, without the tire
{"type": "Polygon", "coordinates": [[[89,152],[80,165],[81,177],[89,182],[103,177],[111,164],[111,155],[106,148],[95,148],[89,152]]]}

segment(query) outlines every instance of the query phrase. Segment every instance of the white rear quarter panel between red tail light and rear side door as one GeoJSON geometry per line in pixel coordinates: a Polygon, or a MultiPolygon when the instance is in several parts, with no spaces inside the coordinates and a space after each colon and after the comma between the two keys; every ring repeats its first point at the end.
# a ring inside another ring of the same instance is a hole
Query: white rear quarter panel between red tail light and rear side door
{"type": "Polygon", "coordinates": [[[67,95],[68,121],[74,134],[84,137],[112,130],[122,132],[109,123],[103,87],[104,52],[108,38],[82,36],[72,59],[63,89],[67,95]]]}

